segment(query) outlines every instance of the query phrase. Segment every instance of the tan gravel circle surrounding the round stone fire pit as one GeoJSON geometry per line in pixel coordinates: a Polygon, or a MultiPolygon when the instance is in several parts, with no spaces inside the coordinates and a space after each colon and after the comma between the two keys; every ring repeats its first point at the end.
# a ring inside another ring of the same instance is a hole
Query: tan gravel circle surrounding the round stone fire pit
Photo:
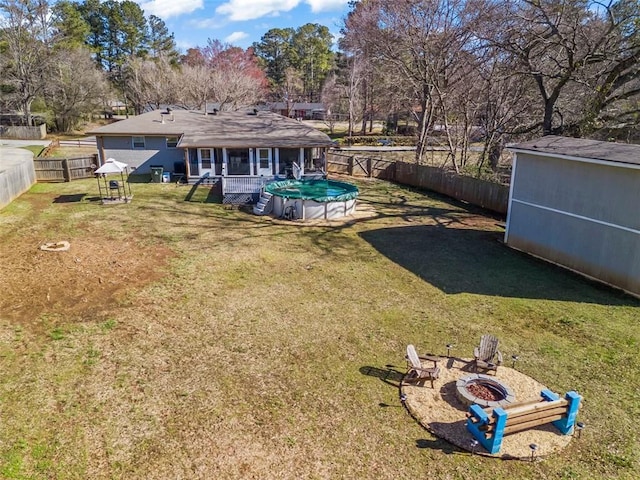
{"type": "MultiPolygon", "coordinates": [[[[465,414],[469,408],[458,400],[455,385],[459,378],[474,373],[470,361],[443,357],[438,363],[440,377],[434,382],[433,389],[429,381],[424,386],[401,385],[401,393],[406,395],[405,405],[411,415],[434,435],[467,451],[471,450],[473,440],[466,427],[465,414]]],[[[430,367],[433,364],[425,362],[424,366],[430,367]]],[[[547,388],[533,378],[506,366],[498,367],[496,378],[511,387],[516,402],[540,398],[540,392],[547,388]]],[[[564,395],[565,392],[556,393],[564,395]]],[[[480,445],[476,447],[475,453],[502,459],[530,459],[529,445],[535,443],[538,445],[536,458],[543,458],[566,447],[571,439],[571,435],[561,435],[553,425],[547,424],[506,435],[500,452],[495,455],[490,455],[480,445]]]]}

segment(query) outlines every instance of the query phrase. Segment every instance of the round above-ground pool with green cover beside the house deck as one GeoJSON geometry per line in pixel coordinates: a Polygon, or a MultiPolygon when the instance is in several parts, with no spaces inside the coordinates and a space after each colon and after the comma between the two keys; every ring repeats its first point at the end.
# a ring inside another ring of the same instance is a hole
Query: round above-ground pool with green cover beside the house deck
{"type": "Polygon", "coordinates": [[[290,219],[332,219],[356,209],[358,187],[335,180],[282,180],[265,185],[273,195],[273,214],[290,219]]]}

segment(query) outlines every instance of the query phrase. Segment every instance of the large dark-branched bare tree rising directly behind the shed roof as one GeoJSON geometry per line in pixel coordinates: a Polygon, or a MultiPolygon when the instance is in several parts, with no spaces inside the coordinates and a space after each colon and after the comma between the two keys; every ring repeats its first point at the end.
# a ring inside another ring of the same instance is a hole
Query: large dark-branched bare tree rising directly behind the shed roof
{"type": "Polygon", "coordinates": [[[532,128],[580,134],[640,93],[639,29],[634,0],[519,0],[496,6],[480,35],[535,82],[540,119],[532,128]]]}

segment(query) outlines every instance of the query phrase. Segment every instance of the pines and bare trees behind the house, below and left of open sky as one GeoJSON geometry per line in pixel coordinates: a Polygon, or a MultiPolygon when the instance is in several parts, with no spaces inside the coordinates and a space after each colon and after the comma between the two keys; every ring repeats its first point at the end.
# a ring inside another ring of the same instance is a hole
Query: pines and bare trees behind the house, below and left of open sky
{"type": "Polygon", "coordinates": [[[272,55],[275,32],[246,50],[210,39],[181,55],[164,21],[130,0],[0,0],[0,107],[32,125],[35,105],[68,131],[114,100],[135,113],[161,104],[234,110],[317,100],[333,65],[328,29],[280,31],[284,56],[272,55]],[[284,80],[271,76],[280,66],[284,80]]]}

